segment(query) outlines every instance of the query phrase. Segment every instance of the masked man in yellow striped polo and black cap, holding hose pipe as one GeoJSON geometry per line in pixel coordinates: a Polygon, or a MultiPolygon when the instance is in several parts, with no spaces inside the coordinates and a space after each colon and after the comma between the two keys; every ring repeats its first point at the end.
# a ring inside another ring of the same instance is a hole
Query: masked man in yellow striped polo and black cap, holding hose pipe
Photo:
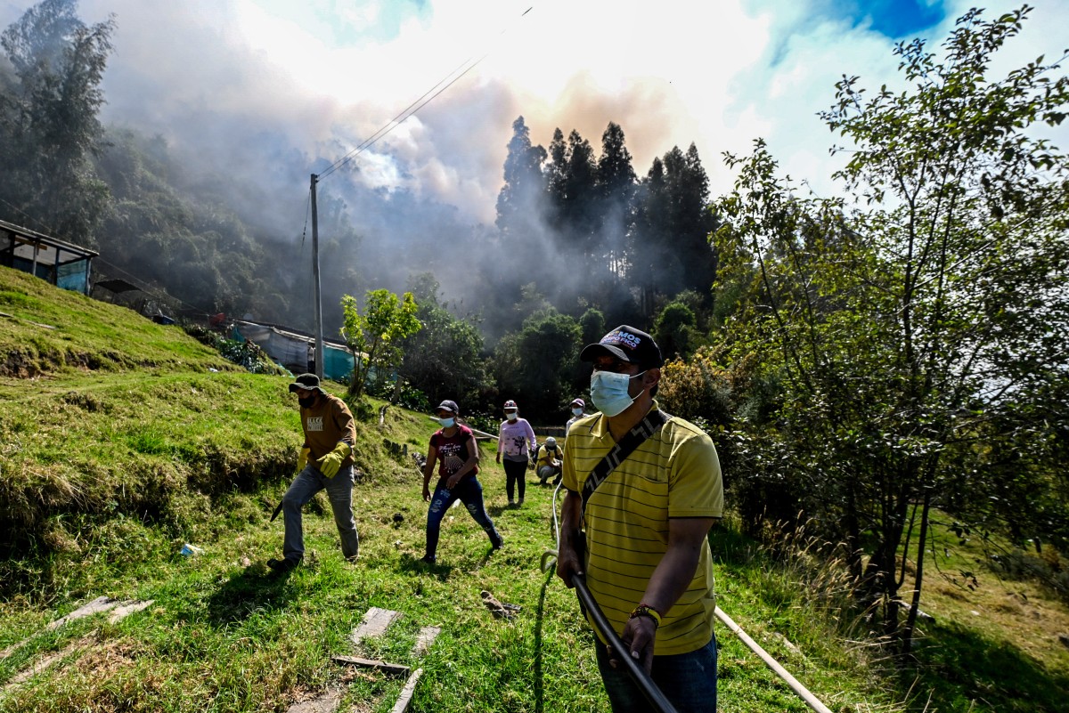
{"type": "MultiPolygon", "coordinates": [[[[663,360],[646,332],[618,327],[588,345],[580,359],[593,364],[590,396],[599,412],[572,424],[564,442],[557,574],[569,587],[573,574],[585,576],[631,655],[677,710],[715,711],[715,599],[707,536],[724,510],[716,448],[693,424],[656,417],[663,415],[653,398],[663,360]],[[584,504],[591,471],[647,416],[652,434],[587,492],[584,504]],[[577,546],[584,537],[585,548],[577,546]]],[[[606,643],[597,648],[613,711],[649,710],[606,643]]]]}

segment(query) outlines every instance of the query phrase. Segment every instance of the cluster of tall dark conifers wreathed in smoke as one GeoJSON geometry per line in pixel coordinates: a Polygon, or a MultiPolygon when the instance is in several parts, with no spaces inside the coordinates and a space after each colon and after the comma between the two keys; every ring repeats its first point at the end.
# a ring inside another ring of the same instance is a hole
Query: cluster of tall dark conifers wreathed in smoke
{"type": "Polygon", "coordinates": [[[497,226],[502,254],[530,266],[521,284],[561,312],[592,304],[609,322],[647,327],[681,291],[711,301],[716,257],[708,236],[716,220],[694,144],[654,159],[638,180],[615,123],[600,156],[574,129],[566,141],[557,128],[546,150],[531,145],[523,116],[512,128],[497,226]]]}

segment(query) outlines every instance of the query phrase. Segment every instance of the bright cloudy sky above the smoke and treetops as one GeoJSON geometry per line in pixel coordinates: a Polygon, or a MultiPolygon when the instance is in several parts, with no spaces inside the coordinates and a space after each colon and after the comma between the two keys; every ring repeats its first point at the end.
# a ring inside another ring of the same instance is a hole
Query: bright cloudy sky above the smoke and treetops
{"type": "MultiPolygon", "coordinates": [[[[989,6],[986,16],[1016,7],[989,6]]],[[[0,23],[29,3],[0,4],[0,23]]],[[[799,0],[82,0],[86,21],[118,16],[106,118],[161,133],[249,176],[276,137],[307,174],[369,138],[468,60],[478,66],[357,158],[366,179],[404,186],[492,222],[511,123],[532,140],[578,129],[595,147],[621,125],[644,175],[655,156],[694,142],[714,192],[731,176],[724,150],[764,137],[784,169],[831,190],[834,137],[816,115],[842,74],[876,89],[897,81],[893,42],[799,0]],[[529,12],[525,14],[527,9],[529,12]],[[243,146],[246,150],[243,153],[243,146]],[[294,155],[295,156],[295,155],[294,155]]],[[[954,1],[938,45],[969,3],[954,1]]],[[[1067,4],[1039,0],[1006,66],[1059,52],[1067,4]]],[[[1065,131],[1055,132],[1064,138],[1065,131]]],[[[1062,141],[1063,145],[1069,141],[1062,141]]]]}

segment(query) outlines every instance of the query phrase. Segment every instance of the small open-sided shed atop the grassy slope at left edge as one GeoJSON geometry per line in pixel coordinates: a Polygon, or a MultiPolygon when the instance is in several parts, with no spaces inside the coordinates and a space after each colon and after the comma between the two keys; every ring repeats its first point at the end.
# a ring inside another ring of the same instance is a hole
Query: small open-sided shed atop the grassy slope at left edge
{"type": "Polygon", "coordinates": [[[95,250],[0,220],[0,265],[29,272],[48,283],[89,295],[95,250]]]}

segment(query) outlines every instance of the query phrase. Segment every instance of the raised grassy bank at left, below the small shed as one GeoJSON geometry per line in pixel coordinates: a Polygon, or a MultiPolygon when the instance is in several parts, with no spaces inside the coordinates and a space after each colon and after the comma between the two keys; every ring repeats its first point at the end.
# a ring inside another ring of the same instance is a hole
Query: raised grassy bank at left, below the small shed
{"type": "Polygon", "coordinates": [[[177,534],[205,498],[255,490],[290,455],[283,379],[251,377],[176,327],[7,268],[0,355],[4,593],[48,576],[2,571],[16,556],[77,556],[115,517],[177,534]]]}

